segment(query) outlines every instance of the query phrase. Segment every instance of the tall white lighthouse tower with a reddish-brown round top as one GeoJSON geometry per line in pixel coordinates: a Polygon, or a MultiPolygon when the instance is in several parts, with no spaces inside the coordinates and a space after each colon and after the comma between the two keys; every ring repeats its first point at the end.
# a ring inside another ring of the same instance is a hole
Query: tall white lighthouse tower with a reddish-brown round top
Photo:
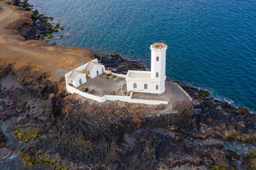
{"type": "Polygon", "coordinates": [[[165,66],[167,45],[164,43],[153,43],[151,50],[151,78],[159,82],[159,91],[165,91],[165,66]]]}

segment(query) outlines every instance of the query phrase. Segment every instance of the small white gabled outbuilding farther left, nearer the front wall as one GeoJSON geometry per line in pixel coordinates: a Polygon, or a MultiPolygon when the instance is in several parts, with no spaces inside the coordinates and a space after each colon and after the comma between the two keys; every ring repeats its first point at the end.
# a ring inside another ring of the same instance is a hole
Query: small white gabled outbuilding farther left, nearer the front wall
{"type": "Polygon", "coordinates": [[[68,78],[74,87],[79,87],[86,83],[86,74],[83,71],[73,70],[68,78]]]}

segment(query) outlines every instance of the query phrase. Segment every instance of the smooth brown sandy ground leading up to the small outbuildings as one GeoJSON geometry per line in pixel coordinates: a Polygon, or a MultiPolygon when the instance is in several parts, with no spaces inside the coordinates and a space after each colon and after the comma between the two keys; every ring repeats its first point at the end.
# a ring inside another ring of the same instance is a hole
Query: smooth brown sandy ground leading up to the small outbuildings
{"type": "Polygon", "coordinates": [[[22,25],[32,25],[31,11],[0,1],[0,61],[31,63],[46,71],[62,74],[94,59],[93,52],[79,47],[52,46],[45,41],[28,40],[19,35],[22,25]],[[61,71],[60,71],[61,70],[61,71]]]}

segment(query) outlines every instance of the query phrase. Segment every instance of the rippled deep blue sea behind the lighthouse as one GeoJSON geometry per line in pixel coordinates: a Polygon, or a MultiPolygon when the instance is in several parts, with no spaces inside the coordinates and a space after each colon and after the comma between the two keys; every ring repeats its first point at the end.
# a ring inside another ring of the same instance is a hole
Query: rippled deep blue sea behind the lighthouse
{"type": "Polygon", "coordinates": [[[64,27],[51,39],[58,45],[120,53],[150,69],[149,46],[163,40],[169,78],[256,111],[255,0],[29,3],[64,27]]]}

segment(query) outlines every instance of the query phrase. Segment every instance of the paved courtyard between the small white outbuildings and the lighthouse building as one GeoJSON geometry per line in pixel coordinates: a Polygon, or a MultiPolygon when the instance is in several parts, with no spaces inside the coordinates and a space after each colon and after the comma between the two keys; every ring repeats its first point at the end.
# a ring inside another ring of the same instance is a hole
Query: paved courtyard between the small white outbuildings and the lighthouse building
{"type": "Polygon", "coordinates": [[[104,95],[118,95],[124,96],[124,94],[120,91],[123,83],[126,83],[125,78],[99,75],[95,78],[90,78],[86,76],[87,82],[83,85],[79,86],[77,89],[82,90],[82,88],[88,88],[88,93],[93,94],[95,96],[104,96],[104,95]],[[92,91],[93,90],[93,91],[92,91]],[[112,94],[112,92],[115,92],[112,94]]]}

